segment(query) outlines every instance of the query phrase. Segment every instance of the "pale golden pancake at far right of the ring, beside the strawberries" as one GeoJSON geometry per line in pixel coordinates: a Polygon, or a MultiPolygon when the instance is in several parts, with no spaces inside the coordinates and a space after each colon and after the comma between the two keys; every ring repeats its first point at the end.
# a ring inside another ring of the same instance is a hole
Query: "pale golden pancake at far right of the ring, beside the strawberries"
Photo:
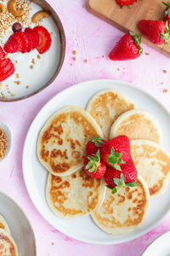
{"type": "Polygon", "coordinates": [[[147,140],[134,140],[130,144],[134,165],[147,183],[150,195],[160,195],[167,187],[170,155],[157,143],[147,140]]]}

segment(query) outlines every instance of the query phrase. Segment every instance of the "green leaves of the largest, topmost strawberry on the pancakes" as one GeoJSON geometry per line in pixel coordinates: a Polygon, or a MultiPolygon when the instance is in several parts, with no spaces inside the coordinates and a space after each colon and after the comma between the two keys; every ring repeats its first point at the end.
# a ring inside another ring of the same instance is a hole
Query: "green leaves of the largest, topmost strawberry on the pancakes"
{"type": "Polygon", "coordinates": [[[126,164],[122,160],[122,153],[115,152],[114,148],[111,148],[111,154],[108,157],[108,163],[120,172],[122,172],[122,169],[119,164],[126,164]]]}

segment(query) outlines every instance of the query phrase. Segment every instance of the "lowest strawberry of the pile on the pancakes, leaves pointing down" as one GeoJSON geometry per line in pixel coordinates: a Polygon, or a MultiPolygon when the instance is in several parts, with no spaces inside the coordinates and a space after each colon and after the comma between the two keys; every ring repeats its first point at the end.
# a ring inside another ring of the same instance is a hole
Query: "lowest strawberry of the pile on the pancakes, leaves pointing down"
{"type": "Polygon", "coordinates": [[[117,189],[122,187],[135,187],[139,183],[136,182],[137,172],[135,166],[132,163],[128,163],[126,166],[127,172],[119,172],[112,167],[108,167],[105,172],[105,183],[107,183],[107,188],[112,190],[115,194],[117,189]],[[131,168],[133,166],[133,168],[131,168]]]}

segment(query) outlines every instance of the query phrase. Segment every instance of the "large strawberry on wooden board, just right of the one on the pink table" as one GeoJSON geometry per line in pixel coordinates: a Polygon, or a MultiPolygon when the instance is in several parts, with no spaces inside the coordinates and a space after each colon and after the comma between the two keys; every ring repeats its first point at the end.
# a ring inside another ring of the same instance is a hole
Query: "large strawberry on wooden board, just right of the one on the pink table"
{"type": "Polygon", "coordinates": [[[140,20],[139,30],[153,44],[167,44],[170,40],[169,27],[162,20],[140,20]]]}

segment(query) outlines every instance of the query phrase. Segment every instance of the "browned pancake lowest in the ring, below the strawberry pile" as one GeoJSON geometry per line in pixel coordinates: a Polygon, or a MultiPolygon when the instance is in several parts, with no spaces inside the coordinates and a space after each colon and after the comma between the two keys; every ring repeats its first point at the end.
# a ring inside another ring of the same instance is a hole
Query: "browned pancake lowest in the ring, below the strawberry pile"
{"type": "Polygon", "coordinates": [[[150,193],[142,177],[139,187],[126,187],[111,194],[106,189],[102,206],[91,213],[94,223],[106,233],[120,235],[136,230],[144,222],[150,205],[150,193]]]}

